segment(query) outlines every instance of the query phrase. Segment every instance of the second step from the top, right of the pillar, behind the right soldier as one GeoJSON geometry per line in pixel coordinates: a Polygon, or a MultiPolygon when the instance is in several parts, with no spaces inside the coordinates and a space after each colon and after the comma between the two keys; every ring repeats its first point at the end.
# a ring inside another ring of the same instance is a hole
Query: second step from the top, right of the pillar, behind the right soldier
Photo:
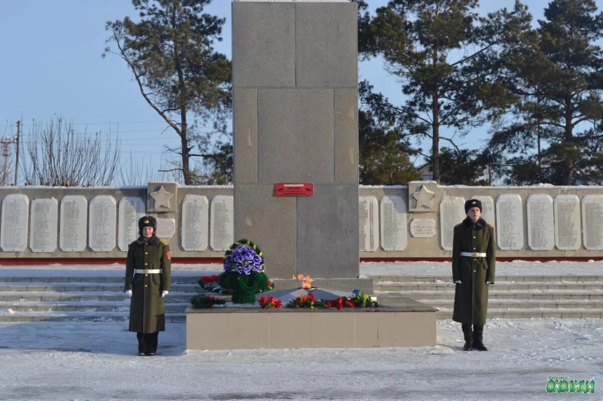
{"type": "MultiPolygon", "coordinates": [[[[374,291],[446,291],[455,288],[454,283],[435,283],[435,282],[378,282],[373,284],[374,291]]],[[[603,282],[496,282],[490,287],[490,291],[503,290],[601,290],[603,282]]]]}

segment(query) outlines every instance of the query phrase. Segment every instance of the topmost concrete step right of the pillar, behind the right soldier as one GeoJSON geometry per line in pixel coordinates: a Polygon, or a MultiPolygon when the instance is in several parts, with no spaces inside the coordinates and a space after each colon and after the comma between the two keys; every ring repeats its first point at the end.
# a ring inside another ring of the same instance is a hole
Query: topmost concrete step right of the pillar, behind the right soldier
{"type": "MultiPolygon", "coordinates": [[[[446,276],[423,276],[423,275],[368,275],[367,278],[373,279],[375,284],[383,281],[399,281],[399,282],[452,282],[452,272],[446,276]]],[[[569,282],[603,282],[603,275],[545,275],[545,276],[500,276],[496,275],[496,283],[501,281],[522,282],[522,281],[569,281],[569,282]]]]}

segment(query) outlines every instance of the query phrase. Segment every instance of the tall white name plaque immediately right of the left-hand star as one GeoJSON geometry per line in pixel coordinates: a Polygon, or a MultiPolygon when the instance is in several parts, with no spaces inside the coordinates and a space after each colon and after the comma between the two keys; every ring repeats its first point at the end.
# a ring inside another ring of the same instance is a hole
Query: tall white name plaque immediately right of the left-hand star
{"type": "Polygon", "coordinates": [[[184,250],[206,250],[209,214],[207,196],[185,195],[182,200],[182,231],[184,250]]]}

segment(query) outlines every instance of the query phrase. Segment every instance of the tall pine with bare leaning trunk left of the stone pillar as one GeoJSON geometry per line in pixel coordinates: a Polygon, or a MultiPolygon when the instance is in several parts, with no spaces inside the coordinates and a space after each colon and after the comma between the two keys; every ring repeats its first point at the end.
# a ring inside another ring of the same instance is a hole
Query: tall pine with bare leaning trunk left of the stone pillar
{"type": "Polygon", "coordinates": [[[221,40],[223,18],[203,13],[211,0],[132,0],[140,22],[130,17],[107,22],[110,32],[103,55],[115,53],[130,67],[145,101],[180,137],[176,170],[185,184],[198,184],[191,167],[191,150],[210,141],[201,128],[226,118],[232,104],[231,67],[226,56],[213,50],[221,40]]]}

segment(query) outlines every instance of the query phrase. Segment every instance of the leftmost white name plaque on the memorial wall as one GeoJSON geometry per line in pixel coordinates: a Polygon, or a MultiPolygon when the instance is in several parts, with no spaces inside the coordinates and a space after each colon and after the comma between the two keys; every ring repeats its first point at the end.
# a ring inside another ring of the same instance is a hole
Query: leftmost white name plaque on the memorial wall
{"type": "Polygon", "coordinates": [[[4,252],[22,252],[27,247],[27,221],[30,199],[24,194],[10,194],[2,199],[0,248],[4,252]]]}

